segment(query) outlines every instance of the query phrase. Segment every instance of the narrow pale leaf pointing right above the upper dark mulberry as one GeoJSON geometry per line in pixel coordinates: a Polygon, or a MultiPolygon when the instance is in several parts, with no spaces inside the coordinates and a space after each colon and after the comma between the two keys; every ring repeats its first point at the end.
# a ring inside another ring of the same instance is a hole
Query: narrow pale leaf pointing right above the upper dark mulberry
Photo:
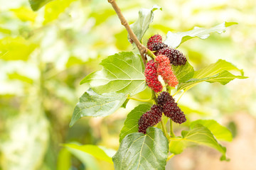
{"type": "Polygon", "coordinates": [[[187,40],[190,40],[192,38],[201,38],[206,39],[210,36],[210,33],[224,33],[225,28],[228,26],[233,26],[234,24],[238,23],[220,23],[218,26],[214,26],[213,28],[200,28],[200,27],[194,27],[193,30],[188,30],[186,32],[178,32],[178,33],[171,33],[169,31],[166,35],[166,40],[164,43],[166,45],[169,45],[170,47],[178,47],[183,42],[186,42],[187,40]]]}

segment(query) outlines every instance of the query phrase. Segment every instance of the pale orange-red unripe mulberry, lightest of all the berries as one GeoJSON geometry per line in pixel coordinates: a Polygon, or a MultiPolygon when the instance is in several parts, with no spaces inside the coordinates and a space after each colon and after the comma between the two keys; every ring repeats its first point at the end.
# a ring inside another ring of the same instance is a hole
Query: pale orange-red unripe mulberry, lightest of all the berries
{"type": "Polygon", "coordinates": [[[175,87],[178,84],[178,79],[171,69],[170,61],[165,55],[156,56],[156,71],[169,86],[175,87]]]}

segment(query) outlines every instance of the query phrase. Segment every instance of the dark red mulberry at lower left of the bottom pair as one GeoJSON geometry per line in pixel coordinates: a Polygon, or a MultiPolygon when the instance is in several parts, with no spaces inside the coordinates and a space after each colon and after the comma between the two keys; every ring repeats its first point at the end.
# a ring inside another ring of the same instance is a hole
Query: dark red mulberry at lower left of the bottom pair
{"type": "Polygon", "coordinates": [[[139,132],[146,134],[146,129],[156,125],[161,120],[162,111],[160,106],[153,105],[150,111],[147,111],[139,118],[139,132]]]}

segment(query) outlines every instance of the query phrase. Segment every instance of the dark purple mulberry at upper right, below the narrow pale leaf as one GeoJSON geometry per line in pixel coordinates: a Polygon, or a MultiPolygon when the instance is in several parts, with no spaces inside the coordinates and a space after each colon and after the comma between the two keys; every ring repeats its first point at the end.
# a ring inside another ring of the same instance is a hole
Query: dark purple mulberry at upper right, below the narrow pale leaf
{"type": "Polygon", "coordinates": [[[182,52],[171,47],[162,48],[156,55],[166,55],[166,57],[169,58],[170,63],[175,66],[186,64],[186,56],[183,55],[182,52]]]}

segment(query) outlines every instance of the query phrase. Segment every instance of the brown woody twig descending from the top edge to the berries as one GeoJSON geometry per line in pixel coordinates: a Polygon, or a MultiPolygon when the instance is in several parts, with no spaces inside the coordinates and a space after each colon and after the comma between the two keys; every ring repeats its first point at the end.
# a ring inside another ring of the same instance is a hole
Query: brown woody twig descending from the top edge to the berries
{"type": "Polygon", "coordinates": [[[129,34],[129,38],[132,40],[132,42],[135,43],[135,45],[139,49],[139,53],[142,56],[142,61],[146,65],[146,59],[144,57],[144,54],[147,52],[148,49],[144,47],[144,45],[142,45],[141,42],[139,42],[137,36],[134,34],[134,32],[132,31],[132,28],[130,28],[129,24],[127,23],[127,20],[124,18],[120,8],[117,6],[116,1],[115,0],[107,0],[107,1],[112,5],[112,7],[114,8],[114,11],[117,13],[119,20],[121,21],[122,25],[125,27],[125,29],[129,34]]]}

